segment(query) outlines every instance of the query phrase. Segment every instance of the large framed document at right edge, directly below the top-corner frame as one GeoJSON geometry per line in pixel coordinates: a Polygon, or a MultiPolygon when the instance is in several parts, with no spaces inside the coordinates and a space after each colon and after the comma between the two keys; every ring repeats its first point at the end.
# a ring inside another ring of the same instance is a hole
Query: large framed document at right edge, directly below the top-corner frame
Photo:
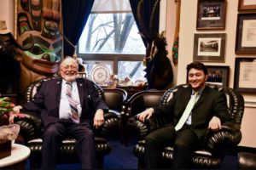
{"type": "Polygon", "coordinates": [[[236,54],[256,54],[256,13],[237,15],[236,54]]]}

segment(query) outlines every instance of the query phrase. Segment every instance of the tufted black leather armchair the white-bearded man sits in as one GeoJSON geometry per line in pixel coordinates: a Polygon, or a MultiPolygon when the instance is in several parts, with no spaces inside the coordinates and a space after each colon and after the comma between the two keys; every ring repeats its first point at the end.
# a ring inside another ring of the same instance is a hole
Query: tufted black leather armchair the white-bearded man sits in
{"type": "MultiPolygon", "coordinates": [[[[34,94],[38,92],[43,81],[47,81],[49,77],[33,82],[26,90],[24,102],[32,100],[34,94]]],[[[104,99],[102,88],[95,84],[100,96],[104,99]]],[[[30,148],[31,155],[29,157],[31,167],[39,167],[41,164],[41,150],[42,150],[42,122],[37,113],[26,112],[25,118],[15,120],[15,123],[20,124],[20,136],[24,139],[25,144],[30,148]]],[[[109,131],[119,123],[119,117],[111,112],[104,115],[105,123],[101,129],[95,129],[96,140],[96,156],[99,168],[103,167],[103,158],[108,155],[111,148],[106,139],[109,131]]],[[[58,156],[58,163],[79,163],[79,158],[74,147],[75,139],[65,139],[62,142],[60,156],[58,156]]]]}

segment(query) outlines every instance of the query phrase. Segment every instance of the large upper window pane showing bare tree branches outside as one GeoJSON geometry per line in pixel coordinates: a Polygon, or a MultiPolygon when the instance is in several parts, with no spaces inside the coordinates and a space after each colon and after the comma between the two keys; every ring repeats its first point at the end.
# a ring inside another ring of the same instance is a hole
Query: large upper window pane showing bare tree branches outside
{"type": "Polygon", "coordinates": [[[79,40],[79,54],[145,54],[131,13],[90,14],[79,40]]]}

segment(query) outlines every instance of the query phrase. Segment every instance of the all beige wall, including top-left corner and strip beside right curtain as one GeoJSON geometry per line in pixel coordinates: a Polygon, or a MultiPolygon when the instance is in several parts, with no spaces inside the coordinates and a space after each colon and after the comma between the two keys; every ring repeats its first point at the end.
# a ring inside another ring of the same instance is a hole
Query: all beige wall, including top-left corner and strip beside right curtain
{"type": "MultiPolygon", "coordinates": [[[[176,4],[172,0],[163,0],[166,15],[161,14],[164,19],[161,22],[161,30],[166,28],[166,37],[168,42],[169,58],[172,60],[172,43],[176,23],[176,4]]],[[[1,0],[0,1],[0,20],[6,20],[7,26],[10,30],[14,30],[14,1],[1,0]]],[[[174,83],[180,84],[186,82],[186,65],[193,61],[193,44],[195,33],[226,33],[226,50],[224,63],[205,63],[207,65],[230,65],[230,88],[233,87],[234,82],[234,67],[235,59],[235,41],[236,41],[236,16],[237,16],[238,0],[227,0],[227,13],[226,13],[226,27],[220,31],[196,31],[196,8],[197,0],[181,0],[181,22],[180,22],[180,41],[179,41],[179,57],[178,67],[174,68],[177,77],[174,83]],[[184,3],[185,2],[185,3],[184,3]],[[177,72],[176,72],[177,71],[177,72]]],[[[241,55],[245,56],[246,55],[241,55]]],[[[255,57],[255,55],[254,55],[255,57]]],[[[243,94],[246,101],[256,101],[255,94],[243,94]]],[[[256,107],[246,107],[244,116],[241,123],[242,139],[241,146],[255,147],[256,148],[256,107]]]]}

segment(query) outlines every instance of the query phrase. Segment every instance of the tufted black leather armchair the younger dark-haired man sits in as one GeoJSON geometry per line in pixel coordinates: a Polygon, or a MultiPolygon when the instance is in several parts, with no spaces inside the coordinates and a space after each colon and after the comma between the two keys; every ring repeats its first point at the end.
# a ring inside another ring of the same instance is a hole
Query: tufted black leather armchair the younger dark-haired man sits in
{"type": "MultiPolygon", "coordinates": [[[[177,89],[186,84],[179,85],[166,91],[162,96],[160,105],[166,105],[177,89]]],[[[244,99],[241,94],[237,93],[232,88],[224,88],[217,85],[207,86],[215,88],[216,90],[223,91],[229,108],[231,117],[230,122],[225,122],[222,129],[217,133],[208,132],[205,137],[205,144],[200,150],[195,150],[193,163],[196,168],[218,168],[224,157],[224,150],[236,147],[241,141],[241,119],[244,111],[244,99]]],[[[131,125],[135,127],[140,133],[140,140],[134,148],[134,155],[138,157],[138,167],[144,167],[143,154],[144,154],[144,137],[157,128],[163,127],[170,122],[169,117],[152,116],[145,123],[137,120],[136,116],[130,120],[131,125]]],[[[173,159],[172,144],[168,145],[161,151],[160,163],[163,167],[170,167],[173,159]]]]}

